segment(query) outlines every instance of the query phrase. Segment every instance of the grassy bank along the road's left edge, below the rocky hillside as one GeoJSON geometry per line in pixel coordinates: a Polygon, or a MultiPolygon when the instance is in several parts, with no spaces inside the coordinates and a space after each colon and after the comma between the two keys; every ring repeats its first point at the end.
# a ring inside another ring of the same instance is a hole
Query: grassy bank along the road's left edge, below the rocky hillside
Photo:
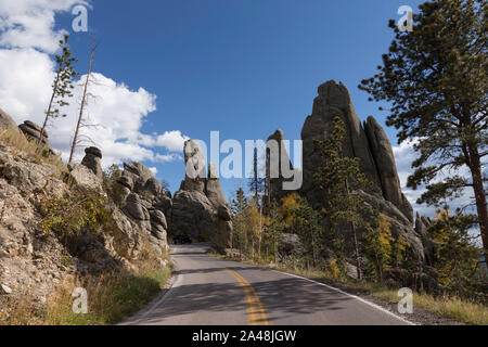
{"type": "Polygon", "coordinates": [[[56,287],[46,305],[28,294],[2,301],[0,324],[8,325],[105,325],[120,322],[149,304],[171,275],[171,266],[145,264],[136,273],[117,271],[101,277],[68,277],[56,287]],[[73,312],[75,288],[88,294],[88,313],[73,312]]]}

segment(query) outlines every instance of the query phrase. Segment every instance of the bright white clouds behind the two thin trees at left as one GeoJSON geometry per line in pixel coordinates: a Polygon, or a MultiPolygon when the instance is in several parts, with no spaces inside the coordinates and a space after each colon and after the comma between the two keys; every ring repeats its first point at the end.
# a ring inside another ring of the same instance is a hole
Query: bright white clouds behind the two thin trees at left
{"type": "MultiPolygon", "coordinates": [[[[0,0],[0,107],[17,123],[30,119],[39,125],[51,97],[54,78],[52,54],[63,30],[55,31],[57,12],[69,11],[79,0],[0,0]]],[[[86,3],[86,2],[85,2],[86,3]]],[[[163,134],[141,133],[146,116],[156,110],[156,95],[143,88],[130,89],[124,82],[93,73],[89,92],[95,95],[87,105],[87,123],[100,125],[81,130],[82,145],[97,145],[103,152],[106,167],[121,160],[167,163],[181,159],[182,144],[188,137],[180,131],[163,134]],[[156,153],[164,147],[168,153],[156,153]]],[[[75,97],[66,107],[67,117],[50,123],[51,146],[67,159],[74,126],[82,95],[82,81],[76,83],[75,97]]],[[[76,160],[84,155],[81,147],[76,160]]]]}

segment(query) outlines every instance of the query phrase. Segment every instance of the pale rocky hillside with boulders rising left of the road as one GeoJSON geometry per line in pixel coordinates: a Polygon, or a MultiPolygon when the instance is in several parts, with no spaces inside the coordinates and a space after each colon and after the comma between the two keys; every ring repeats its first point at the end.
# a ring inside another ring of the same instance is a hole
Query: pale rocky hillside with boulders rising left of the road
{"type": "MultiPolygon", "coordinates": [[[[100,150],[65,166],[28,142],[40,136],[37,128],[26,121],[18,131],[0,112],[0,295],[28,293],[46,303],[69,274],[137,271],[141,257],[166,250],[165,215],[139,195],[157,192],[146,168],[126,165],[133,172],[124,176],[130,189],[123,207],[106,194],[100,150]]],[[[48,144],[47,133],[42,139],[48,144]]]]}

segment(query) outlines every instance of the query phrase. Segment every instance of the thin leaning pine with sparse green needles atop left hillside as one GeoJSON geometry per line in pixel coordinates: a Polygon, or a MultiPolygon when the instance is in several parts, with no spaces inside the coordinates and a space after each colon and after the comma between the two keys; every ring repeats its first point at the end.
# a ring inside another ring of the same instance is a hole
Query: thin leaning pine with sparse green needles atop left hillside
{"type": "MultiPolygon", "coordinates": [[[[66,98],[73,97],[72,90],[75,88],[75,86],[73,86],[73,78],[78,76],[73,67],[73,64],[78,60],[72,56],[67,35],[64,36],[63,40],[60,40],[60,48],[61,54],[55,56],[57,67],[52,83],[51,100],[49,101],[48,111],[46,112],[41,133],[46,131],[50,118],[57,118],[60,116],[66,117],[66,114],[61,114],[60,108],[69,105],[66,98]]],[[[39,137],[37,144],[40,145],[40,142],[41,137],[39,137]]]]}

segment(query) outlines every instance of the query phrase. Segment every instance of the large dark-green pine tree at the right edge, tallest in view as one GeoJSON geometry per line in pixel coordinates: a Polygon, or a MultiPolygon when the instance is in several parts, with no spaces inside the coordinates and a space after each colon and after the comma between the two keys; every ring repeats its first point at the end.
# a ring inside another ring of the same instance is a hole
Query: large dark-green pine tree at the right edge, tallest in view
{"type": "Polygon", "coordinates": [[[377,74],[360,89],[391,105],[387,125],[419,154],[408,187],[425,184],[419,203],[440,206],[473,189],[485,253],[488,249],[487,23],[483,0],[438,0],[420,5],[413,31],[396,33],[377,74]],[[470,179],[460,175],[467,168],[470,179]],[[440,181],[439,181],[440,180],[440,181]]]}

